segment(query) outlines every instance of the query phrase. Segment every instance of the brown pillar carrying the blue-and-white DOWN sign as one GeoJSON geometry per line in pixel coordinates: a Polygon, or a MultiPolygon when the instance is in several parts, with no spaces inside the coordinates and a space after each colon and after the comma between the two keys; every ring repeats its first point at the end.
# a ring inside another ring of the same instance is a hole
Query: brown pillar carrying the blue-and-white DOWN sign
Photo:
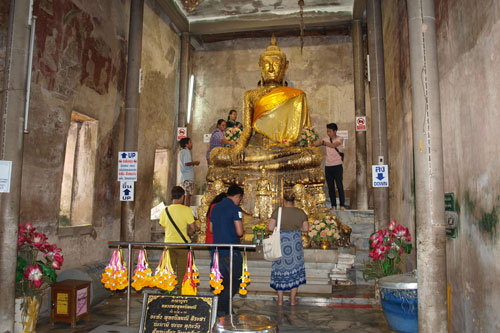
{"type": "MultiPolygon", "coordinates": [[[[368,50],[370,54],[370,102],[372,109],[372,164],[389,164],[385,111],[384,42],[380,0],[367,0],[368,50]]],[[[390,179],[390,175],[389,175],[390,179]]],[[[389,188],[373,189],[375,228],[389,224],[389,188]]]]}

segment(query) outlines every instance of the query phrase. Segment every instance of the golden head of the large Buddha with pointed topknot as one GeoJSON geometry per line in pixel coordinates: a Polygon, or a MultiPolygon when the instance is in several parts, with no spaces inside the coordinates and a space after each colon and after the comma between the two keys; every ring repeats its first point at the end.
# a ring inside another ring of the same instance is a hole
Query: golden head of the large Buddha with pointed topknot
{"type": "Polygon", "coordinates": [[[259,68],[264,83],[281,83],[285,77],[288,61],[286,55],[276,45],[276,38],[271,38],[271,44],[260,55],[259,68]]]}

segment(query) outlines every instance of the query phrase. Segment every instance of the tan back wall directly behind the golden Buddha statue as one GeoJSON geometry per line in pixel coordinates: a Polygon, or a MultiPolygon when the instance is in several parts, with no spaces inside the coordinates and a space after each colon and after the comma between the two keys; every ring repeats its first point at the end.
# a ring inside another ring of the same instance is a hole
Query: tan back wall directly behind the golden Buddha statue
{"type": "MultiPolygon", "coordinates": [[[[212,133],[217,119],[227,119],[230,109],[243,115],[243,94],[260,80],[259,56],[270,38],[240,39],[206,44],[194,54],[195,95],[190,136],[193,158],[201,164],[195,169],[198,186],[205,182],[208,144],[203,133],[212,133]]],[[[306,92],[313,126],[321,136],[325,125],[335,122],[349,131],[346,141],[344,188],[354,197],[355,133],[352,42],[348,37],[306,37],[301,54],[298,38],[279,38],[278,46],[286,54],[289,66],[286,80],[306,92]]]]}

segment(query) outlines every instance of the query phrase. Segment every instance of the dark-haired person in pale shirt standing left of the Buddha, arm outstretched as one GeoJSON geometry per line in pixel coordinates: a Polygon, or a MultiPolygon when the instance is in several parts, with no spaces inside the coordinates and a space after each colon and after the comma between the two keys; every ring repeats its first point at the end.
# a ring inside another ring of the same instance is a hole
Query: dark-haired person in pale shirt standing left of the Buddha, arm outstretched
{"type": "Polygon", "coordinates": [[[200,161],[193,161],[191,159],[191,149],[193,149],[193,143],[190,138],[182,138],[179,141],[181,150],[179,151],[177,168],[178,173],[178,184],[186,192],[184,198],[184,205],[191,205],[191,195],[194,189],[194,166],[200,165],[200,161]]]}

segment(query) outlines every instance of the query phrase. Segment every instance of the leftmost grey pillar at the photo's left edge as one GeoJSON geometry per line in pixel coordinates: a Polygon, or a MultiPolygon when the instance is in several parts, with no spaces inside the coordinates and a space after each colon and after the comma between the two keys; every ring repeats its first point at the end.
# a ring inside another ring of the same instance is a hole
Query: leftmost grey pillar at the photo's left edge
{"type": "Polygon", "coordinates": [[[29,0],[11,0],[4,72],[0,160],[12,161],[9,193],[0,193],[0,332],[14,331],[17,236],[21,201],[29,0]]]}

